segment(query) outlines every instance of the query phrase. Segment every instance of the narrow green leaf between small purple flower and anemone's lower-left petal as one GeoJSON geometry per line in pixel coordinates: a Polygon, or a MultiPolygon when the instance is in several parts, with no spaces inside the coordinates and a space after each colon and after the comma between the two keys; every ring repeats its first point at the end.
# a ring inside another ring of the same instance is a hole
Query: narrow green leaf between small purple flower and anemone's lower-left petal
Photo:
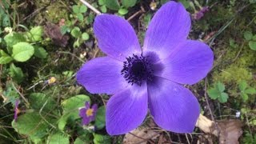
{"type": "Polygon", "coordinates": [[[106,108],[105,106],[101,106],[98,108],[96,118],[95,118],[95,126],[97,129],[102,129],[105,126],[105,117],[106,117],[106,108]]]}

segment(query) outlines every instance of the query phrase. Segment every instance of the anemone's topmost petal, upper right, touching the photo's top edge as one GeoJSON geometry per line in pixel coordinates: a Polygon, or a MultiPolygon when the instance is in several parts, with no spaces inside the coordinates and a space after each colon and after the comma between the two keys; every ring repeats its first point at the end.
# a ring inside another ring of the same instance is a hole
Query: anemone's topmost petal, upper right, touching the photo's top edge
{"type": "Polygon", "coordinates": [[[154,51],[160,58],[166,58],[179,42],[186,40],[190,25],[190,14],[182,3],[167,2],[154,14],[146,31],[143,50],[154,51]]]}

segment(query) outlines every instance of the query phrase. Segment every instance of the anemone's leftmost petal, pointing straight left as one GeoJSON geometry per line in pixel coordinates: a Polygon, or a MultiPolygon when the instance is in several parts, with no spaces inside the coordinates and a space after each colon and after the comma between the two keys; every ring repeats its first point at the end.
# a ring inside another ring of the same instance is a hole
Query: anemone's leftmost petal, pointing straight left
{"type": "Polygon", "coordinates": [[[94,58],[77,73],[77,81],[92,94],[114,94],[127,86],[121,75],[122,62],[110,57],[94,58]]]}

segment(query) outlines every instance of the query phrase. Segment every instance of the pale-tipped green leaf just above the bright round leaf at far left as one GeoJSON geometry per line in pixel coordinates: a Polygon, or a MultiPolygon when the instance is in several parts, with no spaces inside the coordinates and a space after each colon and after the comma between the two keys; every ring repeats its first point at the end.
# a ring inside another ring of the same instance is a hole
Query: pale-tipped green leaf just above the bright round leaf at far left
{"type": "Polygon", "coordinates": [[[9,47],[14,46],[18,42],[26,42],[26,38],[23,36],[23,34],[19,33],[10,33],[3,38],[6,41],[6,45],[9,47]]]}

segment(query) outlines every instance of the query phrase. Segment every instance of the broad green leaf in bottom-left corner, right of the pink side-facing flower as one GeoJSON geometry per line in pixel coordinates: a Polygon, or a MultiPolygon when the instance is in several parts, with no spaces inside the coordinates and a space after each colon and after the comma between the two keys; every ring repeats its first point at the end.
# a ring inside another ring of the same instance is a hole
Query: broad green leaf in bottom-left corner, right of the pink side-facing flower
{"type": "Polygon", "coordinates": [[[26,113],[18,116],[17,122],[11,123],[19,134],[26,134],[33,138],[43,138],[47,134],[48,126],[39,114],[26,113]]]}

